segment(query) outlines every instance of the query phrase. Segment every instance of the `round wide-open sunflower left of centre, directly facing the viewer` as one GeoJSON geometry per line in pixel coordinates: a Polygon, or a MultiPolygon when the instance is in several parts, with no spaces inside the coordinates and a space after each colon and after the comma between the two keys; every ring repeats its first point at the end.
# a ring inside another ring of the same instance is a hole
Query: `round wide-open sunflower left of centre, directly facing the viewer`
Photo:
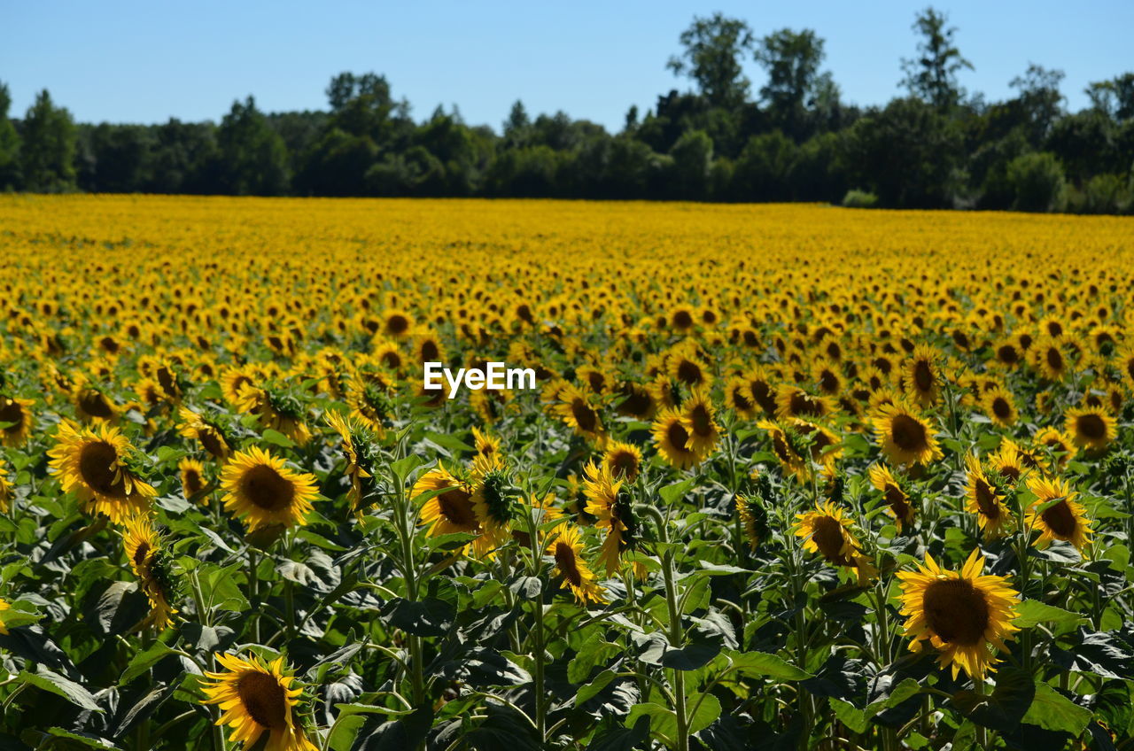
{"type": "Polygon", "coordinates": [[[221,473],[225,507],[245,518],[249,531],[306,524],[319,497],[314,475],[289,470],[284,459],[253,446],[237,452],[221,473]]]}

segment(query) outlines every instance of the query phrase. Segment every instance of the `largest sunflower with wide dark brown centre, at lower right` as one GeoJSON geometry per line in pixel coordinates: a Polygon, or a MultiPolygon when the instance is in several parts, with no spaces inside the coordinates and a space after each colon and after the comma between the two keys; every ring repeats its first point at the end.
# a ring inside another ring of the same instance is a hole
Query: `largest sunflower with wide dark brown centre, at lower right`
{"type": "Polygon", "coordinates": [[[963,669],[983,681],[998,661],[990,647],[1008,651],[1004,641],[1019,631],[1012,623],[1019,593],[1006,577],[982,575],[983,569],[984,558],[973,550],[959,572],[941,568],[929,552],[917,571],[898,572],[909,650],[920,652],[929,642],[939,652],[938,664],[951,666],[954,678],[963,669]]]}

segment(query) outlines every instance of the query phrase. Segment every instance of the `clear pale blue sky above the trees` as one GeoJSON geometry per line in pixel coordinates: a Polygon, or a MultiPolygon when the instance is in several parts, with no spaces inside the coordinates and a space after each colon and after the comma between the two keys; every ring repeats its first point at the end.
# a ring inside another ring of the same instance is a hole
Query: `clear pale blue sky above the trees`
{"type": "MultiPolygon", "coordinates": [[[[516,99],[528,112],[562,109],[620,129],[626,110],[688,82],[666,70],[694,15],[721,10],[758,35],[814,28],[844,99],[882,103],[898,92],[899,58],[925,2],[240,2],[0,0],[0,81],[22,117],[35,92],[82,121],[219,120],[254,94],[268,111],[325,108],[342,70],[383,73],[416,119],[456,104],[499,128],[516,99]]],[[[1029,61],[1060,68],[1070,109],[1090,81],[1134,69],[1134,1],[941,0],[975,71],[962,83],[989,100],[1029,61]]],[[[747,62],[758,90],[763,71],[747,62]]]]}

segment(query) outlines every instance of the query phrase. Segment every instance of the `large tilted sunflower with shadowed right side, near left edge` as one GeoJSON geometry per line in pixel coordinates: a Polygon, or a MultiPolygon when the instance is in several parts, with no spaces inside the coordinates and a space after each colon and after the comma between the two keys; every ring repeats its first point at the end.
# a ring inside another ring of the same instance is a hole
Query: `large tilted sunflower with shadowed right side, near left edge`
{"type": "Polygon", "coordinates": [[[48,452],[64,492],[74,492],[86,513],[103,514],[115,524],[150,508],[158,495],[139,478],[129,439],[105,423],[79,427],[59,423],[56,447],[48,452]]]}

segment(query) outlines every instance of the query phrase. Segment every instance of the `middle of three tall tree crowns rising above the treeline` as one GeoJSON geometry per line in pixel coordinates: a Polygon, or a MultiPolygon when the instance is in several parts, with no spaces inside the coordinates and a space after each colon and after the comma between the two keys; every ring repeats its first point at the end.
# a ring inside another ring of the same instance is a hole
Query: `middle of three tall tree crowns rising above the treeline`
{"type": "Polygon", "coordinates": [[[823,40],[810,28],[781,28],[760,41],[755,58],[768,70],[768,83],[760,88],[760,95],[773,120],[788,135],[802,138],[805,106],[809,99],[814,100],[819,83],[823,40]]]}

